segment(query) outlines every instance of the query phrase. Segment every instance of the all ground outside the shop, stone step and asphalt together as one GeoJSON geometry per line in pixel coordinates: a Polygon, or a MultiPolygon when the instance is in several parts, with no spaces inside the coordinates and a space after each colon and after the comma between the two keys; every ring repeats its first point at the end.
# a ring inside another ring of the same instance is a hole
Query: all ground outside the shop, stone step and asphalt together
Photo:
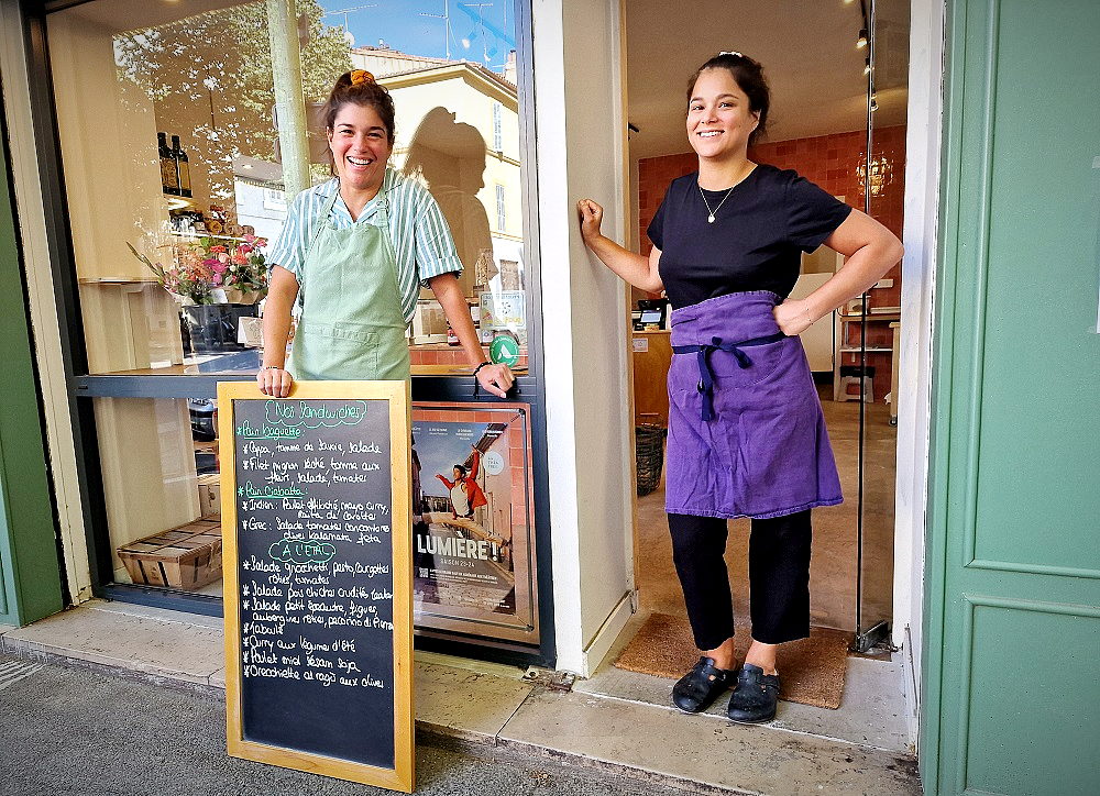
{"type": "MultiPolygon", "coordinates": [[[[917,796],[904,679],[849,657],[840,710],[744,727],[613,666],[565,689],[417,652],[417,793],[917,796]]],[[[228,756],[224,688],[220,619],[94,600],[0,628],[0,794],[385,793],[228,756]]]]}

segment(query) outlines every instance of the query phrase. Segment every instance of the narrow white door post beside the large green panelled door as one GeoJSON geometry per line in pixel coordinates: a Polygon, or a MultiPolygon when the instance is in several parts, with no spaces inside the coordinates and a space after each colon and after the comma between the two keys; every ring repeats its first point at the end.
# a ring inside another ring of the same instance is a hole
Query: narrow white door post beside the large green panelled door
{"type": "MultiPolygon", "coordinates": [[[[893,643],[906,643],[919,672],[924,599],[924,534],[932,411],[932,323],[939,215],[944,7],[914,0],[910,31],[909,131],[905,142],[905,258],[898,396],[898,490],[894,527],[893,643]],[[906,629],[909,638],[906,638],[906,629]]],[[[920,677],[911,683],[914,694],[920,677]]],[[[915,739],[915,737],[914,737],[915,739]]]]}

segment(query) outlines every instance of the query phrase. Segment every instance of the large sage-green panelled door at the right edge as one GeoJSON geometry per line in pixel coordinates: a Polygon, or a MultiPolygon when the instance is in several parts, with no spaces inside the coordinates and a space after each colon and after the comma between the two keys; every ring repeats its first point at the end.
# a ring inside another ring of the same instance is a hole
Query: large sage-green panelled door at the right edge
{"type": "Polygon", "coordinates": [[[1100,794],[1100,2],[948,2],[928,794],[1100,794]]]}

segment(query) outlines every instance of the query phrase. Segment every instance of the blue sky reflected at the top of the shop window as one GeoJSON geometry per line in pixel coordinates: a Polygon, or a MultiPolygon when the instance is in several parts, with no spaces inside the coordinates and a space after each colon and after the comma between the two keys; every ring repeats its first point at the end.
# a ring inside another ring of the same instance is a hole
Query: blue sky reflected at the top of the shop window
{"type": "Polygon", "coordinates": [[[324,24],[343,27],[354,45],[410,55],[475,60],[494,71],[515,49],[512,0],[319,0],[324,24]]]}

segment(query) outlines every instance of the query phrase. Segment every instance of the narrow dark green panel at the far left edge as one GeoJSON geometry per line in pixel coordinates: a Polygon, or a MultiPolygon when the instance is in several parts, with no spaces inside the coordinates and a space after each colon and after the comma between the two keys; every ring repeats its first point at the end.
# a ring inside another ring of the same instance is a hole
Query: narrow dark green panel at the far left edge
{"type": "Polygon", "coordinates": [[[3,113],[0,155],[0,623],[22,626],[62,610],[67,596],[3,113]]]}

